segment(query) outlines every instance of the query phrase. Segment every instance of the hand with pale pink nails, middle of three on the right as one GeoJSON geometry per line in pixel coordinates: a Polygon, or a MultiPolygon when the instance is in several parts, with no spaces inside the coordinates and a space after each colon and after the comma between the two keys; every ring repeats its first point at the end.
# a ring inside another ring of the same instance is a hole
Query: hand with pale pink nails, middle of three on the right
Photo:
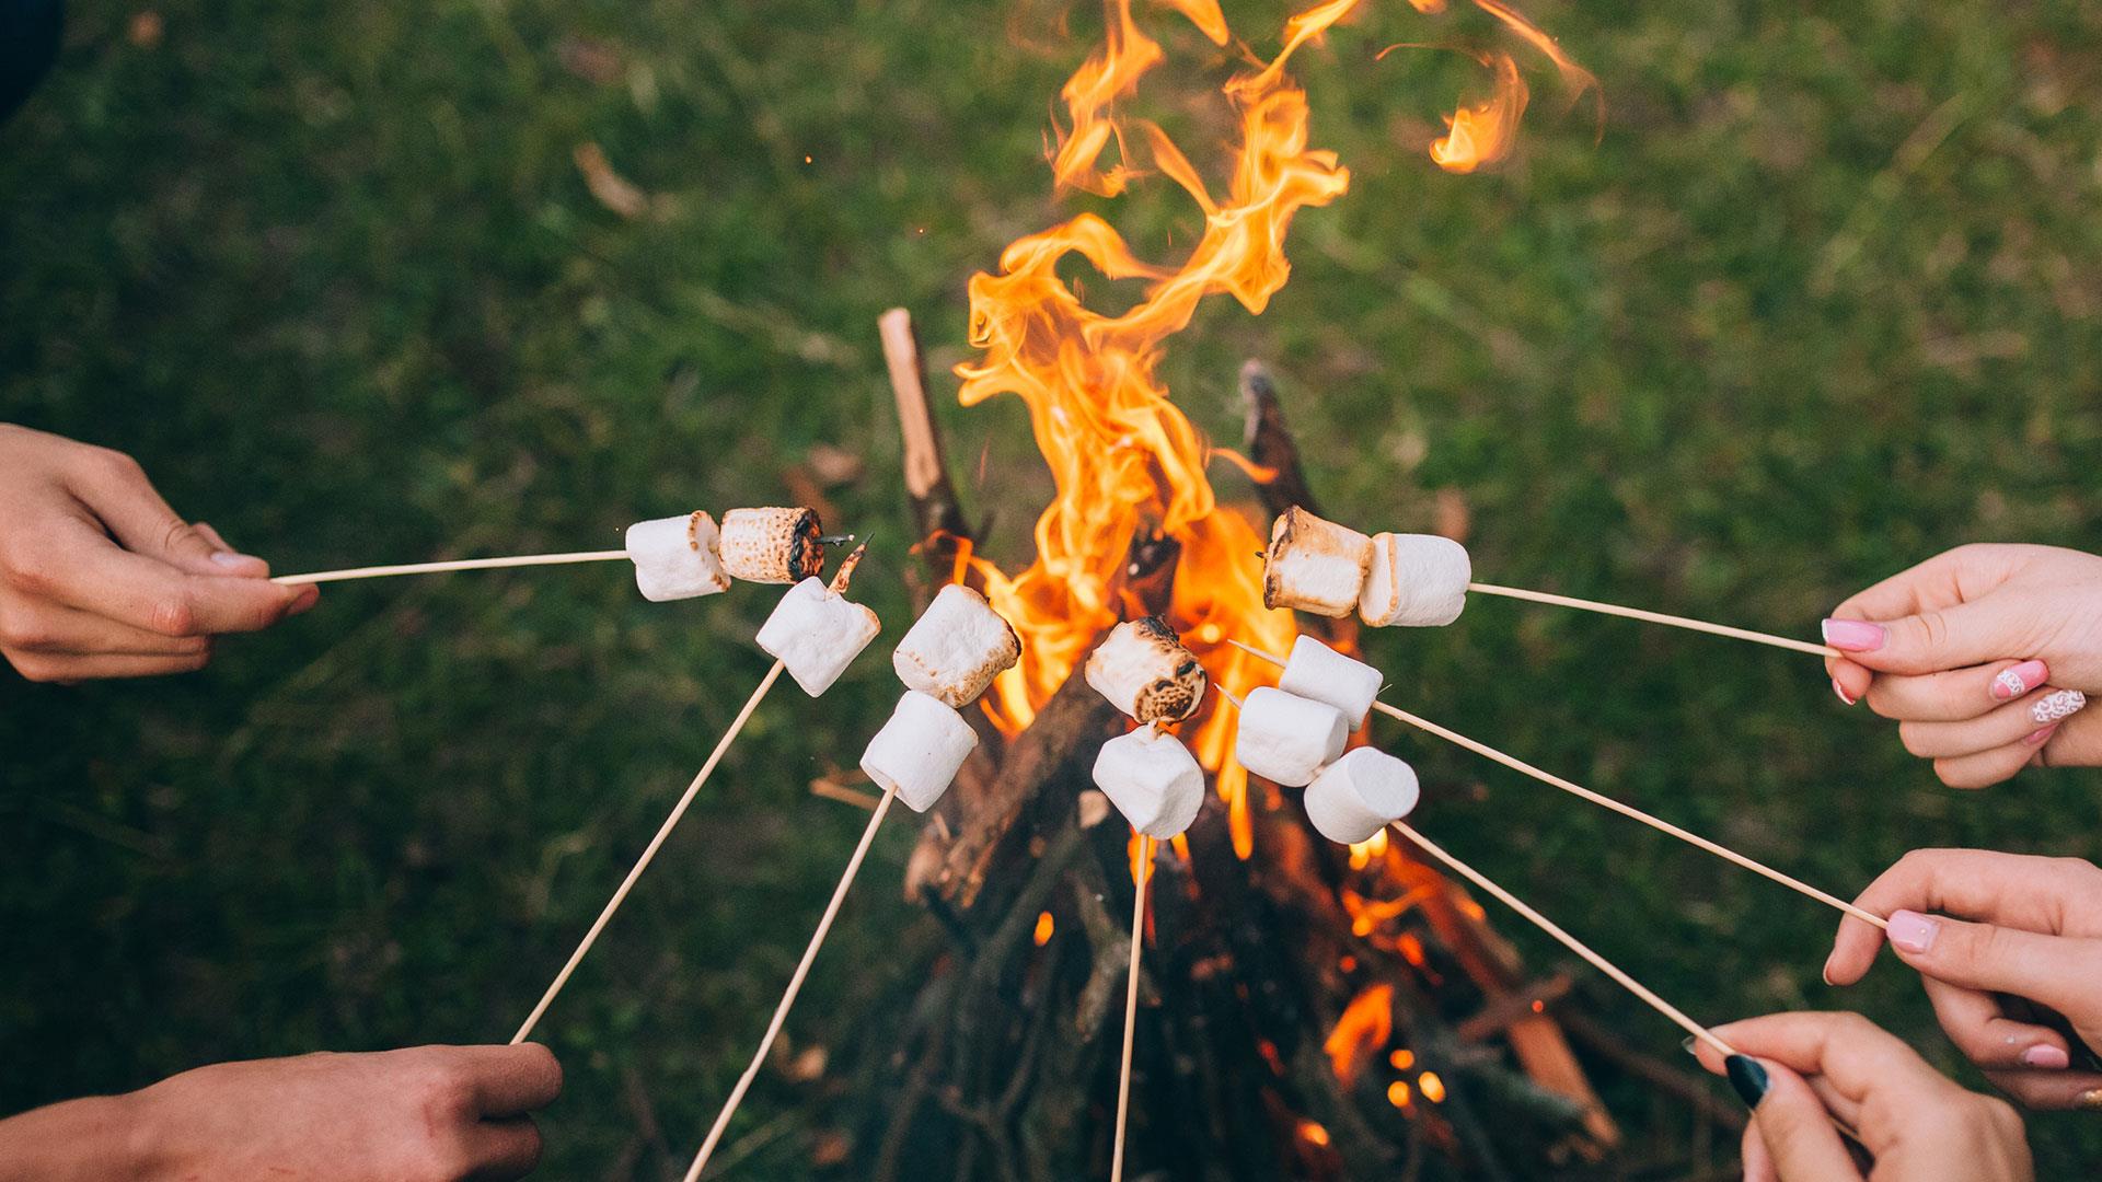
{"type": "MultiPolygon", "coordinates": [[[[1892,951],[1919,970],[1942,1031],[1986,1079],[2031,1108],[2102,1108],[2102,1073],[2073,1068],[2075,1054],[2102,1047],[2102,869],[1915,850],[1854,902],[1890,917],[1892,951]],[[2085,1047],[2045,1024],[2054,1018],[2085,1047]]],[[[1841,919],[1825,980],[1867,976],[1883,940],[1875,925],[1841,919]]]]}

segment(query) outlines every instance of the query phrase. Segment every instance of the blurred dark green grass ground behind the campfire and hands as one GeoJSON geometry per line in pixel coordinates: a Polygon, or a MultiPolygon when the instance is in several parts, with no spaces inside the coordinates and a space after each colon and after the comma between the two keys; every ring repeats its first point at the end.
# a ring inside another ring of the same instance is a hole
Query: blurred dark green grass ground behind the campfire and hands
{"type": "MultiPolygon", "coordinates": [[[[1238,437],[1236,366],[1265,358],[1339,515],[1465,511],[1486,578],[1801,635],[1955,543],[2098,545],[2102,4],[1537,2],[1600,76],[1604,135],[1530,59],[1520,151],[1476,177],[1423,158],[1467,59],[1373,53],[1495,27],[1389,8],[1297,59],[1356,183],[1299,219],[1263,318],[1215,301],[1177,341],[1202,427],[1238,437]]],[[[1270,53],[1278,6],[1230,15],[1270,53]]],[[[910,305],[946,395],[969,273],[1074,208],[1043,130],[1099,17],[1064,19],[76,2],[0,130],[0,419],[135,452],[280,570],[618,545],[824,469],[837,524],[879,534],[860,587],[895,635],[910,538],[872,322],[910,305]],[[866,467],[837,482],[811,448],[866,467]]],[[[1217,164],[1215,116],[1167,114],[1217,164]]],[[[1171,191],[1125,204],[1150,248],[1194,233],[1171,191]]],[[[994,557],[1024,562],[1045,477],[1019,408],[942,416],[994,557]]],[[[507,1037],[761,675],[769,604],[650,606],[618,568],[374,583],[198,677],[0,677],[0,1110],[507,1037]]],[[[1841,894],[1917,845],[2102,854],[2096,774],[1946,791],[1814,660],[1499,602],[1371,648],[1431,717],[1841,894]]],[[[807,784],[891,696],[864,660],[759,713],[542,1026],[570,1073],[547,1176],[685,1161],[862,822],[807,784]]],[[[1392,745],[1457,852],[1696,1014],[1852,1005],[1957,1071],[1909,974],[1820,984],[1816,904],[1392,745]]],[[[799,1047],[881,989],[908,841],[883,837],[799,1047]]],[[[748,1176],[809,1169],[809,1100],[759,1085],[731,1134],[748,1176]]],[[[2102,1153],[2091,1125],[2033,1121],[2045,1176],[2102,1153]]]]}

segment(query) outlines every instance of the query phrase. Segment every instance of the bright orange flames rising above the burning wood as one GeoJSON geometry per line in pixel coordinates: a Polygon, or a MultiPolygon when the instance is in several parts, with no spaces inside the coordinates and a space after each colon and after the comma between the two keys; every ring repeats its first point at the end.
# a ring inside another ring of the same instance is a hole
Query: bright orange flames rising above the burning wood
{"type": "MultiPolygon", "coordinates": [[[[1217,0],[1158,2],[1209,42],[1236,44],[1217,0]]],[[[1169,623],[1213,684],[1244,696],[1274,679],[1268,667],[1228,646],[1230,637],[1272,652],[1293,644],[1293,616],[1263,608],[1261,566],[1253,562],[1265,541],[1261,524],[1219,505],[1207,465],[1217,456],[1255,480],[1272,473],[1213,448],[1169,400],[1156,370],[1167,341],[1207,297],[1230,294],[1249,313],[1261,313],[1291,276],[1284,238],[1293,217],[1331,204],[1349,187],[1335,154],[1310,145],[1307,99],[1284,65],[1362,2],[1324,0],[1293,13],[1276,57],[1221,86],[1236,126],[1223,193],[1160,126],[1122,109],[1167,57],[1139,27],[1131,0],[1104,0],[1104,40],[1059,90],[1064,120],[1049,151],[1059,191],[1118,198],[1146,177],[1165,177],[1196,206],[1204,229],[1181,261],[1158,263],[1141,259],[1104,217],[1083,212],[1015,240],[1001,254],[998,273],[971,278],[971,345],[980,355],[956,366],[959,398],[975,406],[1001,393],[1019,395],[1055,486],[1036,519],[1036,557],[1026,570],[1009,576],[967,549],[956,562],[956,576],[975,574],[1022,635],[1022,663],[998,677],[986,702],[1007,734],[1026,728],[1093,639],[1129,614],[1122,589],[1137,536],[1160,534],[1179,545],[1169,623]],[[1141,299],[1114,315],[1087,307],[1080,284],[1059,276],[1068,257],[1106,280],[1141,284],[1141,299]]],[[[1476,2],[1558,65],[1566,63],[1553,40],[1516,11],[1476,2]]],[[[1444,0],[1413,4],[1438,11],[1444,0]]],[[[1482,116],[1455,116],[1440,164],[1455,168],[1469,158],[1480,164],[1507,151],[1524,109],[1516,65],[1490,105],[1482,116]]],[[[1232,757],[1234,715],[1230,702],[1215,702],[1194,724],[1190,745],[1215,772],[1234,850],[1246,858],[1255,829],[1249,774],[1232,757]]]]}

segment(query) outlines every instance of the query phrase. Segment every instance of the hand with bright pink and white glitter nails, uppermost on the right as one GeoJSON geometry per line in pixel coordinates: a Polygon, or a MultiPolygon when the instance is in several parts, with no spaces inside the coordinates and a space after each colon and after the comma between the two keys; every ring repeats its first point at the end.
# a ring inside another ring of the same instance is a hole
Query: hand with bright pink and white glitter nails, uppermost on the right
{"type": "Polygon", "coordinates": [[[1833,692],[1898,719],[1949,787],[2028,763],[2102,763],[2102,557],[1967,545],[1854,595],[1825,620],[1833,692]]]}

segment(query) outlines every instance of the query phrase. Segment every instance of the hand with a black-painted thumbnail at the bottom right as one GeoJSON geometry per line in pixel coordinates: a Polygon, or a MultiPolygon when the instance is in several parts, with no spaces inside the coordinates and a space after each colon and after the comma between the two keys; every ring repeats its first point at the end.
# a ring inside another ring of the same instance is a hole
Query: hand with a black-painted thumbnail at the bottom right
{"type": "MultiPolygon", "coordinates": [[[[1740,1052],[1732,1083],[1751,1104],[1747,1182],[1860,1182],[1833,1119],[1860,1134],[1871,1182],[2028,1182],[2022,1119],[1957,1087],[1860,1014],[1770,1014],[1717,1026],[1740,1052]],[[1747,1062],[1749,1060],[1749,1062],[1747,1062]]],[[[1701,1066],[1730,1071],[1722,1052],[1701,1066]]]]}

